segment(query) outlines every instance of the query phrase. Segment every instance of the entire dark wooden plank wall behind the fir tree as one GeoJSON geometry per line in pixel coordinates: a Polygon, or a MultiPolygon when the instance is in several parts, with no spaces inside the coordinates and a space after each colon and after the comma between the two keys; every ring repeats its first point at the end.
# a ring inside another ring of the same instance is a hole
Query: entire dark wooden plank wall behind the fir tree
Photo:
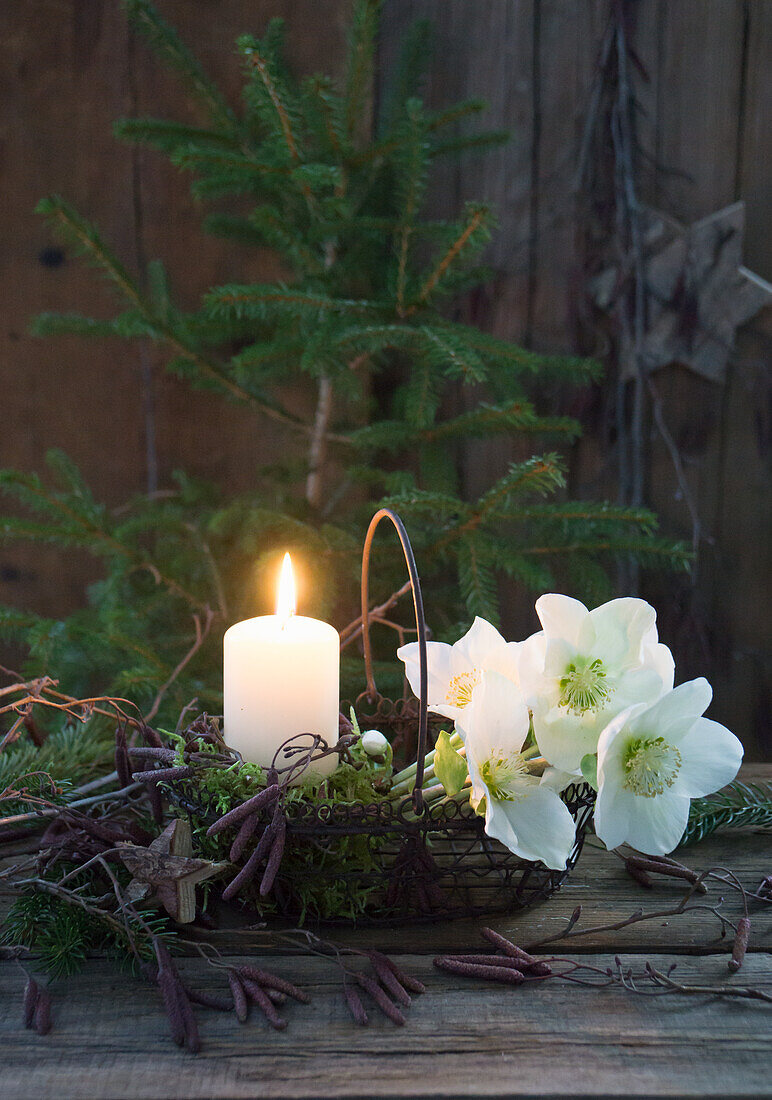
{"type": "MultiPolygon", "coordinates": [[[[274,14],[289,28],[304,70],[340,66],[351,0],[159,0],[207,68],[238,87],[232,43],[274,14]]],[[[581,233],[572,176],[608,0],[386,0],[379,68],[415,18],[435,21],[427,96],[435,103],[482,96],[484,121],[514,140],[467,158],[435,180],[435,208],[483,198],[498,209],[490,249],[495,284],[476,317],[538,349],[574,340],[581,233]]],[[[769,69],[772,0],[638,0],[635,46],[650,74],[641,89],[642,138],[669,175],[650,177],[646,199],[690,222],[736,198],[748,207],[746,263],[772,278],[769,69]]],[[[163,377],[147,349],[38,341],[25,334],[41,309],[111,307],[93,273],[52,242],[32,210],[52,190],[102,228],[130,266],[164,257],[192,301],[230,278],[271,277],[264,260],[197,231],[186,182],[164,162],[120,145],[111,121],[135,112],[180,117],[189,105],[174,78],[129,35],[119,0],[19,0],[0,7],[0,465],[40,468],[64,447],[110,502],[142,491],[148,431],[157,479],[176,466],[230,491],[250,484],[266,453],[287,446],[271,424],[195,395],[163,377]],[[251,266],[247,266],[251,264],[251,266]]],[[[378,95],[382,81],[376,85],[378,95]]],[[[770,389],[772,317],[740,333],[726,383],[680,367],[660,373],[668,421],[684,457],[706,539],[696,584],[651,586],[683,675],[714,682],[716,717],[754,756],[772,756],[769,730],[770,389]]],[[[507,454],[475,448],[470,488],[507,454]]],[[[573,457],[576,494],[614,493],[608,457],[589,438],[573,457]]],[[[648,496],[669,534],[690,522],[661,441],[649,443],[648,496]]],[[[0,549],[0,602],[63,614],[82,600],[92,566],[76,556],[0,549]]],[[[512,634],[532,626],[529,600],[510,594],[512,634]]]]}

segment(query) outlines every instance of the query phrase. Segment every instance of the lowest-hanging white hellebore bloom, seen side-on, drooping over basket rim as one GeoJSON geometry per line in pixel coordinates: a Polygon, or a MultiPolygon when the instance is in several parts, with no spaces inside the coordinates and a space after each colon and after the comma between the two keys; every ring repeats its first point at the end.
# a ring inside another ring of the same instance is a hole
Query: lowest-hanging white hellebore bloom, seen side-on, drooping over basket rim
{"type": "Polygon", "coordinates": [[[528,707],[520,689],[498,672],[483,673],[474,698],[456,718],[466,745],[472,805],[485,799],[485,832],[523,859],[562,870],[576,828],[569,809],[528,770],[522,746],[528,707]]]}

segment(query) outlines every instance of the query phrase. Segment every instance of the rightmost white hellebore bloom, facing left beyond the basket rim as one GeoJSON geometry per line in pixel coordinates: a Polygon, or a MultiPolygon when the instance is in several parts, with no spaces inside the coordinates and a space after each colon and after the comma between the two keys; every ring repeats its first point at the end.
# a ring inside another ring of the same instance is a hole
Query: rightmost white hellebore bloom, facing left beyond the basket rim
{"type": "Polygon", "coordinates": [[[606,726],[598,743],[595,832],[607,848],[627,843],[666,855],[684,834],[690,800],[735,778],[742,745],[702,717],[712,695],[707,680],[691,680],[606,726]]]}

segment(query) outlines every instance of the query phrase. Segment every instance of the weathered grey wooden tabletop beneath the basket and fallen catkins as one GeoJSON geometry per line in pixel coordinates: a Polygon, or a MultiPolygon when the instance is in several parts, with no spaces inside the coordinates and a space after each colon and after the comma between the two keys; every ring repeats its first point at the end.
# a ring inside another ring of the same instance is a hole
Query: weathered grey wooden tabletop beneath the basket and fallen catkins
{"type": "MultiPolygon", "coordinates": [[[[772,767],[746,769],[745,776],[770,780],[772,767]]],[[[687,849],[683,859],[698,870],[730,867],[756,888],[772,871],[772,842],[760,832],[724,833],[687,849]]],[[[591,926],[639,908],[670,908],[682,893],[682,883],[672,880],[642,889],[591,838],[555,898],[489,923],[523,944],[561,930],[578,903],[582,924],[591,926]]],[[[714,884],[708,900],[716,903],[721,893],[723,911],[740,915],[732,892],[714,884]]],[[[727,971],[727,942],[706,911],[589,935],[572,942],[570,953],[603,966],[617,954],[659,969],[675,963],[674,977],[685,983],[729,981],[772,992],[772,909],[756,906],[752,919],[751,947],[735,976],[727,971]]],[[[368,1027],[356,1027],[329,960],[274,955],[266,965],[304,986],[312,1003],[288,1007],[286,1032],[272,1031],[255,1013],[239,1026],[230,1013],[197,1010],[203,1046],[195,1057],[172,1043],[155,994],[100,959],[66,989],[54,987],[48,1035],[25,1031],[23,976],[13,963],[0,963],[0,1098],[772,1096],[769,1003],[642,997],[555,980],[517,988],[433,968],[438,952],[482,949],[482,923],[328,933],[382,947],[426,982],[428,992],[413,999],[404,1028],[375,1013],[368,1027]]],[[[249,956],[254,964],[252,939],[232,932],[217,934],[216,942],[229,959],[249,956]]],[[[200,960],[186,959],[181,969],[196,974],[200,988],[216,988],[217,976],[200,960]]]]}

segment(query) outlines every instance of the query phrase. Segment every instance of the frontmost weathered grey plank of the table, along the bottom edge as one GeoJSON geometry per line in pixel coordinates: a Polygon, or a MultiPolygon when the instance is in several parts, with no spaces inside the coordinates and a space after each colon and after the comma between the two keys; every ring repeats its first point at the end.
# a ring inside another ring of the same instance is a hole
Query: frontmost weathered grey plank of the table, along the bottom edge
{"type": "MultiPolygon", "coordinates": [[[[661,969],[677,961],[684,982],[727,978],[719,959],[651,961],[661,969]]],[[[352,1024],[329,960],[271,959],[276,972],[300,979],[312,1003],[289,1007],[283,1033],[262,1019],[242,1030],[231,1015],[199,1012],[203,1050],[196,1058],[173,1046],[157,994],[96,964],[67,983],[55,1001],[55,1030],[38,1038],[21,1025],[22,980],[5,964],[0,1092],[4,1100],[772,1094],[769,1005],[558,981],[512,989],[440,975],[426,957],[400,963],[429,991],[415,999],[399,1032],[374,1014],[368,1028],[352,1024]]],[[[207,985],[222,987],[209,974],[207,985]]],[[[769,960],[748,959],[731,981],[772,989],[769,960]]]]}

